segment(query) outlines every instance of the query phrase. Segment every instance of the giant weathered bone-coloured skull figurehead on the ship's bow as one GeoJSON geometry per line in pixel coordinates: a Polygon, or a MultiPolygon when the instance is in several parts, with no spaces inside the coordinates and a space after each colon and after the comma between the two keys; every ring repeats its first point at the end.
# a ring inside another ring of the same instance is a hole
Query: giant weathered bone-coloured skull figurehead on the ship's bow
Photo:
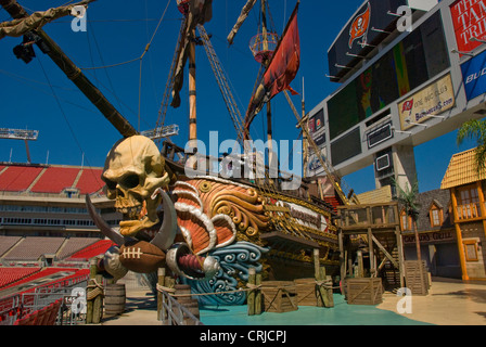
{"type": "Polygon", "coordinates": [[[169,183],[164,167],[155,143],[142,136],[120,140],[110,151],[102,178],[106,196],[115,200],[115,208],[124,216],[122,235],[135,236],[158,223],[161,196],[152,200],[152,194],[169,183]]]}

